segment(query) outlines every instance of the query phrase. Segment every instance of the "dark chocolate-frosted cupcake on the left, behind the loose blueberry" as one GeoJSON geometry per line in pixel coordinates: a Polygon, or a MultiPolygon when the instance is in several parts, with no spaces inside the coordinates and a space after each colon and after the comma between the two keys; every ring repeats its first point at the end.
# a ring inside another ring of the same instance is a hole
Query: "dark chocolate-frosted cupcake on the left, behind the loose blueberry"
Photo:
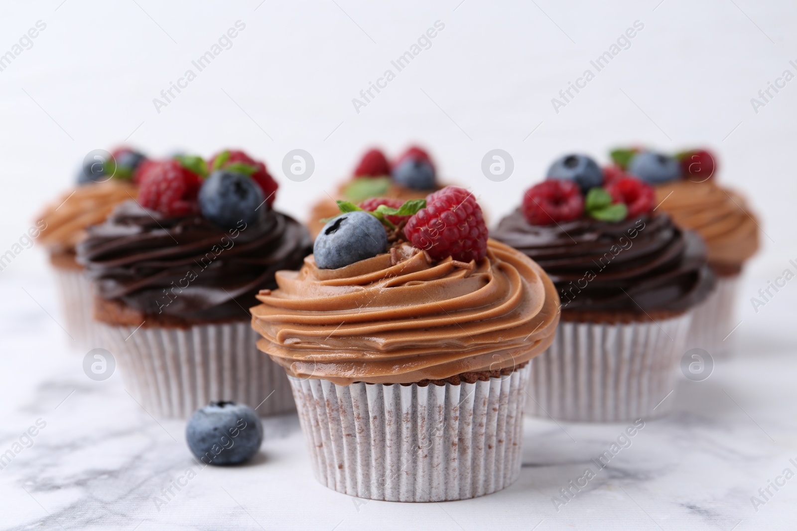
{"type": "Polygon", "coordinates": [[[272,209],[277,183],[265,166],[240,153],[210,168],[198,157],[151,162],[137,201],[78,245],[94,316],[132,395],[155,416],[187,418],[224,400],[262,416],[294,408],[284,371],[257,351],[246,308],[276,287],[277,270],[301,266],[311,240],[272,209]]]}

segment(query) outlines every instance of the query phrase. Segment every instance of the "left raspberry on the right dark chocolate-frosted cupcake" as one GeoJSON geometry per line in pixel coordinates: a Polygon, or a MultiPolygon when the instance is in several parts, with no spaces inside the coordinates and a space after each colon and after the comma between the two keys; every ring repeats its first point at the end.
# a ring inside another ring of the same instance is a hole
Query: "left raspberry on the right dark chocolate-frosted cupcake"
{"type": "Polygon", "coordinates": [[[526,190],[521,210],[532,225],[552,225],[581,217],[584,198],[575,182],[552,179],[526,190]]]}

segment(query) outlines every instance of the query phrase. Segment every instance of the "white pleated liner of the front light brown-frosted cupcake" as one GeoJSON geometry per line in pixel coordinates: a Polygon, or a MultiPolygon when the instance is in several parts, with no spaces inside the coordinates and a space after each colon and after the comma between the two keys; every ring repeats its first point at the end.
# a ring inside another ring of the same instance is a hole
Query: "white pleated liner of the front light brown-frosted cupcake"
{"type": "Polygon", "coordinates": [[[520,474],[528,365],[460,385],[335,385],[290,378],[312,467],[340,493],[442,502],[501,490],[520,474]]]}

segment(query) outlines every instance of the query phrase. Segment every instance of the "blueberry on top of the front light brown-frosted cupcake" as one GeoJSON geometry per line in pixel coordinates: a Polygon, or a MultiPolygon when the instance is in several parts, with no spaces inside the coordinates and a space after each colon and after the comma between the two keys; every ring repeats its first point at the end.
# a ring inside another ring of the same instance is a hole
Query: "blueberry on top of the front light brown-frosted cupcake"
{"type": "Polygon", "coordinates": [[[367,212],[340,214],[316,236],[312,246],[316,266],[337,269],[385,252],[387,232],[382,223],[367,212]]]}

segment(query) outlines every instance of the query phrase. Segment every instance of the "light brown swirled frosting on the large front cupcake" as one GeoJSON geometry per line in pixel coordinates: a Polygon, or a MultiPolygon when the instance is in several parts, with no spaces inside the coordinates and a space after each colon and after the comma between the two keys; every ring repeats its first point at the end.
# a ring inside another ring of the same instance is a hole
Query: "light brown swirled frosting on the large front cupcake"
{"type": "Polygon", "coordinates": [[[258,295],[257,346],[287,372],[339,385],[442,380],[507,369],[553,341],[559,299],[542,269],[489,240],[473,268],[401,244],[340,269],[279,271],[258,295]]]}

